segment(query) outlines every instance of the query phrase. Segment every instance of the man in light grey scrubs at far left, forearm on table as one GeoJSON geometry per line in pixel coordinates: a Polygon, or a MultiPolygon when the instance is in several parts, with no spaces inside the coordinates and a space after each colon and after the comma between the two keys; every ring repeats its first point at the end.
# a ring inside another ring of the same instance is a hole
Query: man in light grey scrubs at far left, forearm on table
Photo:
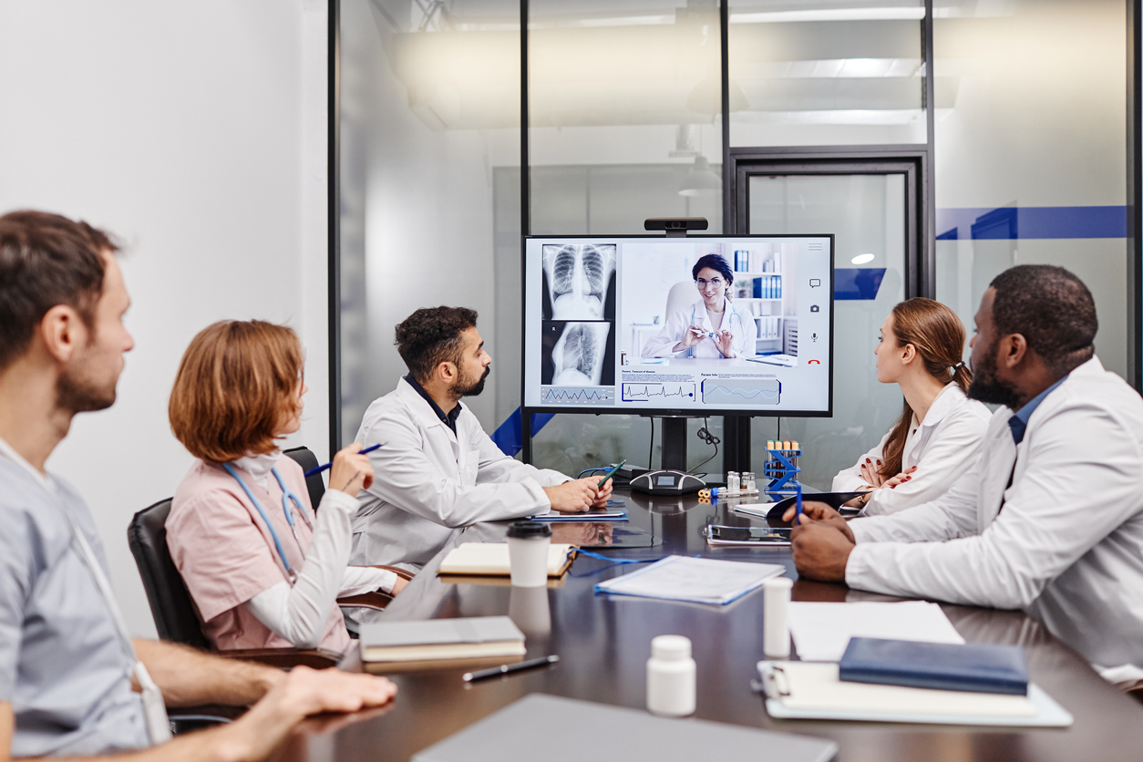
{"type": "Polygon", "coordinates": [[[77,412],[114,402],[133,346],[114,250],[85,223],[0,217],[0,762],[125,751],[139,761],[264,759],[306,715],[381,705],[397,689],[127,635],[91,514],[45,471],[77,412]],[[230,725],[163,743],[165,704],[255,701],[230,725]]]}

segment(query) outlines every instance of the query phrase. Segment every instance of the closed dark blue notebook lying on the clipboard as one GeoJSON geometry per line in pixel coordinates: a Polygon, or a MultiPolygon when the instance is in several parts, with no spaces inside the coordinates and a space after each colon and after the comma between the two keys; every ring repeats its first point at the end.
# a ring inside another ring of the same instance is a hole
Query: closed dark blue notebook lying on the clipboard
{"type": "Polygon", "coordinates": [[[1018,645],[850,637],[838,663],[838,677],[857,683],[1028,695],[1028,661],[1018,645]]]}

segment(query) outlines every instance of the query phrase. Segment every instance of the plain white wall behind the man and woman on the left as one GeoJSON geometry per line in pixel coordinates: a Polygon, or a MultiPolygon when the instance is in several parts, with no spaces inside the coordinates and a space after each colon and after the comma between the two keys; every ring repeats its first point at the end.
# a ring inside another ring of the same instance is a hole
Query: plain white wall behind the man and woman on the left
{"type": "Polygon", "coordinates": [[[328,449],[326,3],[0,0],[0,212],[38,208],[125,240],[133,297],[119,401],[48,463],[96,516],[128,625],[154,625],[127,523],[191,458],[167,398],[223,318],[288,322],[306,347],[293,443],[328,449]]]}

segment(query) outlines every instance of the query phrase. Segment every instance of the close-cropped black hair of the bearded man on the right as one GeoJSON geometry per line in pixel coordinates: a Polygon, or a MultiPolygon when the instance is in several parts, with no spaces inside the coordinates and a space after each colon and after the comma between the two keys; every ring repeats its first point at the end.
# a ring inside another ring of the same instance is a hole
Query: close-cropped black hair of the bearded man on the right
{"type": "Polygon", "coordinates": [[[997,275],[997,336],[1020,334],[1052,371],[1071,372],[1095,354],[1095,299],[1079,278],[1053,265],[1017,265],[997,275]]]}

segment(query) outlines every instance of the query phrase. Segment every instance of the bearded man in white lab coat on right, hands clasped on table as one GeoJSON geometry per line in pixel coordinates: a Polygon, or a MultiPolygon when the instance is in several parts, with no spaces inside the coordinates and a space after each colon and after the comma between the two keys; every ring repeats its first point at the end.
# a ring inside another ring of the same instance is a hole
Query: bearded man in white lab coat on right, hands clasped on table
{"type": "Polygon", "coordinates": [[[1143,676],[1143,400],[1095,356],[1097,327],[1066,270],[998,275],[976,313],[968,396],[1002,407],[975,467],[895,515],[847,523],[810,504],[798,572],[1024,609],[1112,682],[1143,676]]]}

